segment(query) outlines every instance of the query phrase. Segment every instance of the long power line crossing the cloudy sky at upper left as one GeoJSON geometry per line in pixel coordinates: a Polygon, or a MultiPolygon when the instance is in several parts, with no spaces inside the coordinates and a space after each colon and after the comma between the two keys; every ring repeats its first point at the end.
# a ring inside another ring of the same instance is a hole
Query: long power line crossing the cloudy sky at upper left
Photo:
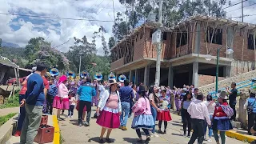
{"type": "Polygon", "coordinates": [[[65,19],[74,21],[90,21],[90,22],[114,22],[110,20],[97,20],[97,19],[86,19],[86,18],[62,18],[62,17],[50,17],[50,16],[40,16],[40,15],[29,15],[29,14],[11,14],[11,13],[1,13],[2,15],[15,15],[21,17],[34,17],[34,18],[50,18],[50,19],[65,19]]]}

